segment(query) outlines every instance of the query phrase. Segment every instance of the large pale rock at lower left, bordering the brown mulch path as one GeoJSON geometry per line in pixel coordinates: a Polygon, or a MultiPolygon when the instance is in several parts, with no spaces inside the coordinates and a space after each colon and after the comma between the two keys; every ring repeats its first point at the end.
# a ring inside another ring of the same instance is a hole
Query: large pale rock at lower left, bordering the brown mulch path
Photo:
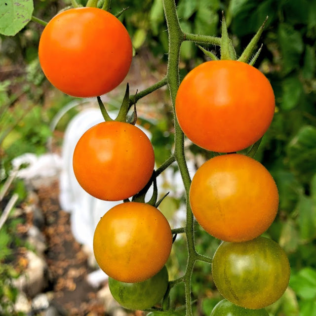
{"type": "Polygon", "coordinates": [[[33,298],[47,286],[47,265],[44,259],[31,250],[26,253],[28,267],[13,281],[14,285],[33,298]]]}

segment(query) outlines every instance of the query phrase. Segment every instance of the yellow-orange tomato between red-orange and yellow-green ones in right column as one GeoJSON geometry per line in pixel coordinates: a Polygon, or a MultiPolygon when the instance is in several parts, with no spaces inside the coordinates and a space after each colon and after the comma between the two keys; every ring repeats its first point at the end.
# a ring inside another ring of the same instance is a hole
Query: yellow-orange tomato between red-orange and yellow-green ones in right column
{"type": "Polygon", "coordinates": [[[190,205],[197,222],[225,241],[246,241],[264,233],[276,217],[278,191],[269,171],[240,154],[211,158],[193,177],[190,205]]]}

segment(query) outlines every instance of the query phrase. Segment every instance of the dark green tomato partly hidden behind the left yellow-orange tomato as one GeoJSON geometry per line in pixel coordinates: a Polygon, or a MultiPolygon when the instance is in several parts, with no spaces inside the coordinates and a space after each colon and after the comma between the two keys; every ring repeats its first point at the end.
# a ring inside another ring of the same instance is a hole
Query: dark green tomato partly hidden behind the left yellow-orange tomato
{"type": "Polygon", "coordinates": [[[126,283],[109,277],[109,287],[121,306],[129,310],[145,310],[162,300],[168,281],[168,271],[164,266],[158,274],[143,282],[126,283]]]}

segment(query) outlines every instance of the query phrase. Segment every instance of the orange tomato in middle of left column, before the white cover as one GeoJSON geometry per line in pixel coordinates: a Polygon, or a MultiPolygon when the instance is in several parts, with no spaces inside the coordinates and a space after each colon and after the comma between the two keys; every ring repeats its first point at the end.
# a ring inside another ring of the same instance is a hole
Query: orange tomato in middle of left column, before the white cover
{"type": "Polygon", "coordinates": [[[150,180],[155,165],[153,146],[138,127],[107,121],[88,129],[73,156],[75,176],[91,196],[118,201],[132,197],[150,180]]]}

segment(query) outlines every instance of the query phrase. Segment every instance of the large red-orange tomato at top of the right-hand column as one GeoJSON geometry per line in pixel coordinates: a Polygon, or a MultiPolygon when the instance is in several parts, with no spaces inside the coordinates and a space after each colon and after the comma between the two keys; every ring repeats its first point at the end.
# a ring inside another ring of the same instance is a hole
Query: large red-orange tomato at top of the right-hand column
{"type": "Polygon", "coordinates": [[[242,150],[267,131],[275,111],[269,80],[239,61],[209,61],[181,82],[176,116],[198,146],[220,153],[242,150]]]}

